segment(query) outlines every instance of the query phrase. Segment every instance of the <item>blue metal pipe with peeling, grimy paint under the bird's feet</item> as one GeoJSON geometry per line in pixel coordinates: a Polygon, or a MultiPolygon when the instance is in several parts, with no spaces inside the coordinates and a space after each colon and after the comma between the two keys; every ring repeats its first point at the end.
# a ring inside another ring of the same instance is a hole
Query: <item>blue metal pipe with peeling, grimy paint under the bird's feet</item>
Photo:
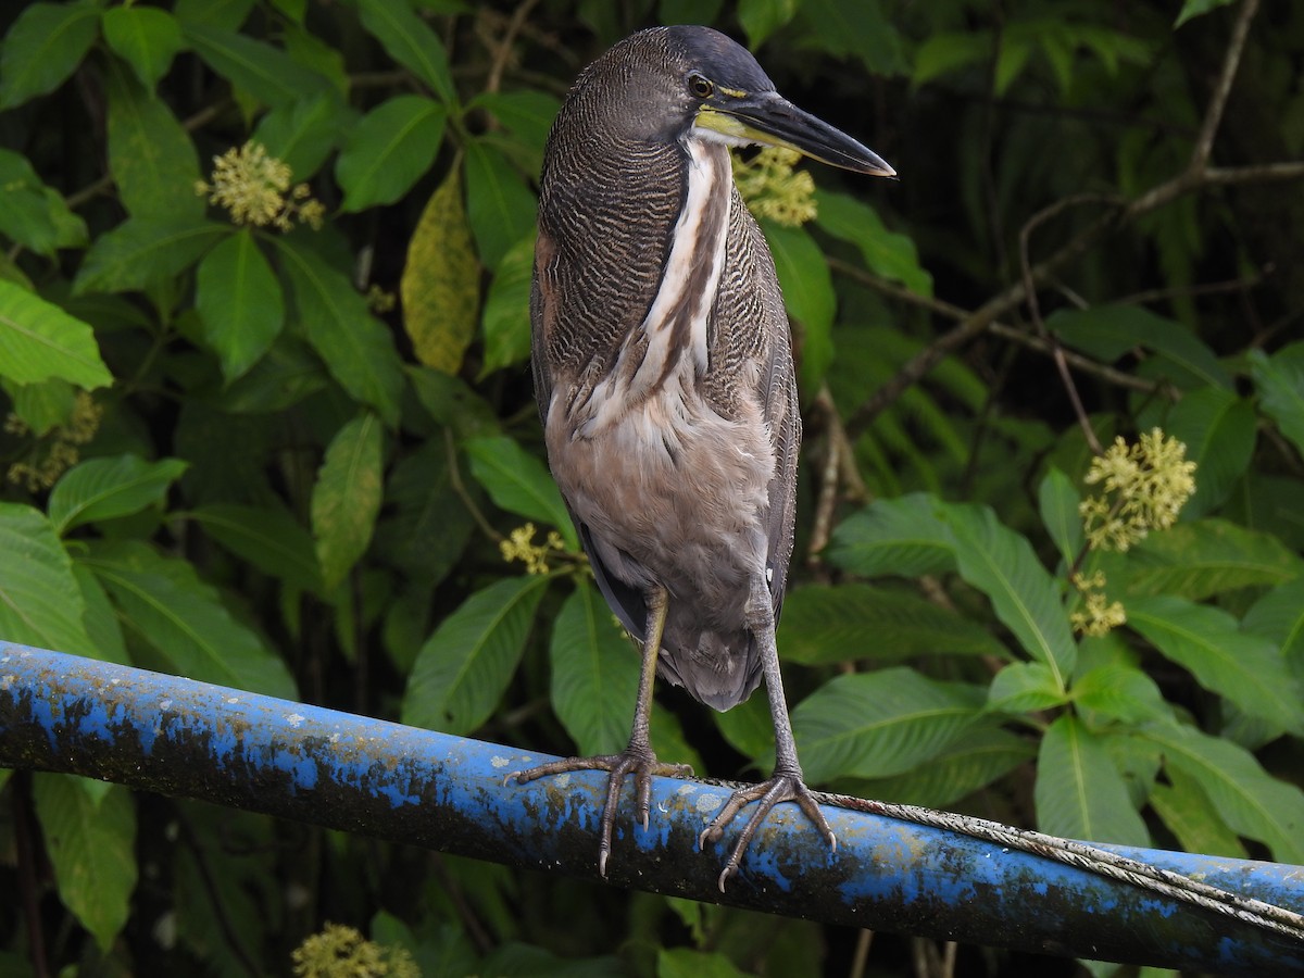
{"type": "MultiPolygon", "coordinates": [[[[600,773],[503,784],[545,760],[304,703],[0,643],[0,765],[64,771],[600,882],[600,773]]],[[[618,823],[609,882],[938,939],[1224,974],[1301,974],[1304,944],[990,842],[827,807],[837,852],[780,806],[724,895],[728,795],[656,778],[647,832],[618,823]]],[[[1304,867],[1115,848],[1292,909],[1304,867]]]]}

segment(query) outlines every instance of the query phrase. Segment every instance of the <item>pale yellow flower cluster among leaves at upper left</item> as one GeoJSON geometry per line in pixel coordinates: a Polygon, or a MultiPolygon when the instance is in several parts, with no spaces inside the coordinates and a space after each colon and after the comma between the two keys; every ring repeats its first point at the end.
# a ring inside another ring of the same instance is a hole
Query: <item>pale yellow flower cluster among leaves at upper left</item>
{"type": "Polygon", "coordinates": [[[226,207],[236,224],[273,226],[289,231],[297,219],[314,231],[322,226],[326,207],[314,201],[308,184],[291,189],[289,167],[269,156],[265,146],[246,142],[213,158],[213,183],[194,185],[209,203],[226,207]]]}

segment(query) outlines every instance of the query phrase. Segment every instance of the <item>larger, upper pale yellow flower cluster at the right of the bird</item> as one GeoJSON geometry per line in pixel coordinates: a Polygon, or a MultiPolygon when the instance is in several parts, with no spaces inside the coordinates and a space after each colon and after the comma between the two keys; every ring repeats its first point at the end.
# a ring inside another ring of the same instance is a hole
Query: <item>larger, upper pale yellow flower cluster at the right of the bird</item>
{"type": "Polygon", "coordinates": [[[1091,462],[1086,484],[1102,484],[1099,496],[1078,505],[1086,542],[1093,550],[1127,550],[1151,529],[1167,529],[1196,492],[1196,463],[1187,446],[1158,428],[1136,445],[1116,438],[1091,462]]]}

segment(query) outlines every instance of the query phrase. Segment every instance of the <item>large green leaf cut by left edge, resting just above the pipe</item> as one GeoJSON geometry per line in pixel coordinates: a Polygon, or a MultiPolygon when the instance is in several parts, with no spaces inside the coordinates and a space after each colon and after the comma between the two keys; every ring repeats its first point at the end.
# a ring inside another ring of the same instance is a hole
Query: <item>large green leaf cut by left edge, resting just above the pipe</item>
{"type": "Polygon", "coordinates": [[[86,604],[55,528],[30,506],[0,502],[0,635],[7,642],[94,656],[86,604]]]}

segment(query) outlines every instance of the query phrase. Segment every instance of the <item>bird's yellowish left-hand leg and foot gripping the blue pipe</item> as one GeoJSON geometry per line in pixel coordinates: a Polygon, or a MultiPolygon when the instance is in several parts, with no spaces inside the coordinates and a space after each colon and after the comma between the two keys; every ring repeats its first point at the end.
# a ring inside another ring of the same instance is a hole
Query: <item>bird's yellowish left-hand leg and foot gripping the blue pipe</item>
{"type": "MultiPolygon", "coordinates": [[[[602,803],[602,840],[597,850],[597,871],[606,876],[606,859],[612,854],[612,829],[615,827],[617,797],[621,785],[629,775],[634,775],[635,811],[643,831],[648,828],[648,815],[652,808],[652,776],[689,777],[692,768],[689,764],[662,764],[652,752],[648,741],[652,716],[652,683],[656,681],[656,659],[661,651],[661,634],[665,630],[665,612],[669,595],[664,587],[648,593],[647,639],[643,643],[643,668],[639,673],[639,698],[634,707],[634,726],[630,730],[630,743],[619,754],[602,754],[596,758],[567,758],[548,764],[514,771],[503,778],[524,784],[536,777],[562,775],[569,771],[606,771],[606,801],[602,803]]],[[[782,692],[780,692],[782,696],[782,692]]],[[[794,755],[795,759],[795,755],[794,755]]]]}

